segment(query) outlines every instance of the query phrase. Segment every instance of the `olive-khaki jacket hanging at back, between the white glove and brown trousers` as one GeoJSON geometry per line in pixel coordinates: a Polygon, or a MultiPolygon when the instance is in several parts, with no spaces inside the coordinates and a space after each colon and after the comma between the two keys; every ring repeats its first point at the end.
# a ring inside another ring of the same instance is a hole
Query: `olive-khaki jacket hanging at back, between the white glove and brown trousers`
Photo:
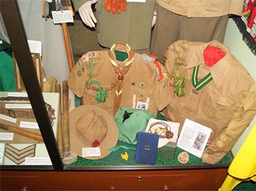
{"type": "MultiPolygon", "coordinates": [[[[73,0],[78,10],[87,0],[73,0]]],[[[98,42],[111,48],[113,43],[125,41],[134,50],[149,49],[155,0],[146,3],[127,2],[127,10],[120,14],[107,12],[104,1],[96,3],[98,42]]]]}

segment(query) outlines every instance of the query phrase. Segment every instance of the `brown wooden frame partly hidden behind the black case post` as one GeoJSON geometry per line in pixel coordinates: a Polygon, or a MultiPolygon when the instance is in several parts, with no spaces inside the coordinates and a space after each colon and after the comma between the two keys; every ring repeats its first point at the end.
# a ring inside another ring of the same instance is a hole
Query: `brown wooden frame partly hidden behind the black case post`
{"type": "MultiPolygon", "coordinates": [[[[40,57],[39,53],[31,53],[31,57],[33,59],[33,63],[35,66],[35,71],[37,72],[37,79],[39,82],[39,86],[41,87],[41,90],[43,90],[43,77],[44,77],[44,72],[43,72],[43,66],[42,66],[42,59],[40,57]]],[[[24,83],[21,78],[21,74],[19,73],[19,67],[17,65],[17,61],[15,59],[15,55],[13,54],[13,64],[15,68],[15,82],[16,82],[16,91],[17,92],[22,92],[26,91],[26,88],[24,86],[24,83]]]]}

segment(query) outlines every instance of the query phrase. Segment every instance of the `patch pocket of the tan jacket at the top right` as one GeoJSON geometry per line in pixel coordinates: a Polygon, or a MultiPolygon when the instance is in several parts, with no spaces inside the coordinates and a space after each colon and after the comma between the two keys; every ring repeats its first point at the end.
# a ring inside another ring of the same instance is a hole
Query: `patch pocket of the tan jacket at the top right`
{"type": "Polygon", "coordinates": [[[230,7],[230,0],[203,1],[203,8],[205,8],[205,10],[223,12],[223,11],[228,11],[229,7],[230,7]]]}

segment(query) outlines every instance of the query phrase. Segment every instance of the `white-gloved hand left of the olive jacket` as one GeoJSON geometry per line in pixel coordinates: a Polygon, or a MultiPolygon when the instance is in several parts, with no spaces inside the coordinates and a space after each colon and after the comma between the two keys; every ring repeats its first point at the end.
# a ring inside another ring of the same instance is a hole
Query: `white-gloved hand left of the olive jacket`
{"type": "Polygon", "coordinates": [[[79,9],[78,12],[80,14],[80,17],[82,21],[86,24],[86,26],[89,26],[91,28],[95,27],[94,23],[97,23],[97,20],[95,19],[95,16],[93,14],[93,10],[91,8],[91,5],[93,3],[96,3],[98,0],[90,0],[86,1],[79,9]]]}

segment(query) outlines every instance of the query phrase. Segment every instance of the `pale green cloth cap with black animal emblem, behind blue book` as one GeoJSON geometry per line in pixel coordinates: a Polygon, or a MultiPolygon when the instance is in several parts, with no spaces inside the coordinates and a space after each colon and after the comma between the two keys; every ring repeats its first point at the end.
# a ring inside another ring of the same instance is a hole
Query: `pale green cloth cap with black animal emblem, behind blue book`
{"type": "Polygon", "coordinates": [[[145,132],[150,118],[156,118],[149,110],[119,108],[114,116],[118,126],[118,140],[136,145],[137,132],[145,132]]]}

